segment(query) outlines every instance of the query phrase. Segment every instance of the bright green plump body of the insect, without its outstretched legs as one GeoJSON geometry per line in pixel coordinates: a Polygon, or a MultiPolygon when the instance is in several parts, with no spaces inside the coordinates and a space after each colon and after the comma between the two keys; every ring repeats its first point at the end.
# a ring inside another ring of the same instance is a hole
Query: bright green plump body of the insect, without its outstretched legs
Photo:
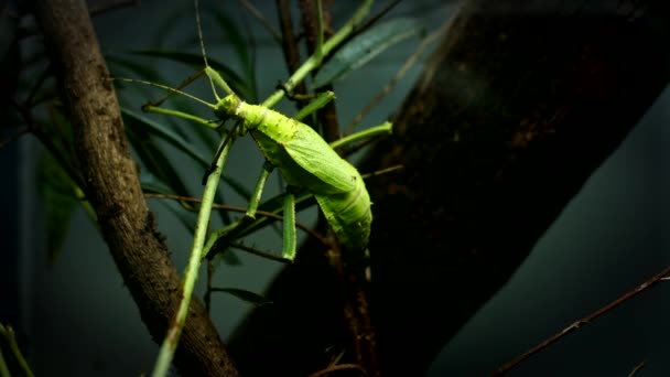
{"type": "MultiPolygon", "coordinates": [[[[209,67],[214,83],[220,75],[209,67]]],[[[370,196],[363,177],[310,126],[259,105],[249,105],[229,94],[216,104],[220,119],[242,120],[271,166],[279,169],[289,186],[304,187],[314,195],[338,240],[352,250],[363,250],[370,235],[370,196]]]]}

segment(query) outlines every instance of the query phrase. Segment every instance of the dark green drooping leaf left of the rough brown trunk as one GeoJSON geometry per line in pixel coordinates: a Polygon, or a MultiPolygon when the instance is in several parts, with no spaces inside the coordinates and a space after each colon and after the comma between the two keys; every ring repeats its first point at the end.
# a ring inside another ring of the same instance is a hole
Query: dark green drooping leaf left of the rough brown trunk
{"type": "Polygon", "coordinates": [[[37,193],[46,215],[46,245],[48,260],[53,263],[61,255],[72,213],[79,201],[74,183],[56,160],[46,151],[37,159],[37,193]]]}

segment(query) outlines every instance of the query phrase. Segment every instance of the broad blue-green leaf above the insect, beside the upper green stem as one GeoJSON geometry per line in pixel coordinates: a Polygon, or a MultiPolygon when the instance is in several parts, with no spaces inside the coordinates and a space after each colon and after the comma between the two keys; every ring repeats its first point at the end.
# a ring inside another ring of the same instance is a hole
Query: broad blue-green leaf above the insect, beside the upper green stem
{"type": "Polygon", "coordinates": [[[341,79],[396,43],[420,33],[423,33],[423,26],[415,19],[399,18],[379,23],[337,50],[314,77],[314,86],[341,79]]]}

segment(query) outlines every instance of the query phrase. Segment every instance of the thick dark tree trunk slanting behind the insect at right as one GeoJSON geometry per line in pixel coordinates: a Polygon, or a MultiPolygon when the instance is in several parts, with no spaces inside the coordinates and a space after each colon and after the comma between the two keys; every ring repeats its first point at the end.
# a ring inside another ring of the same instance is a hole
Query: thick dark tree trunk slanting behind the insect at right
{"type": "MultiPolygon", "coordinates": [[[[367,181],[385,375],[421,375],[619,146],[670,78],[669,20],[667,1],[466,2],[359,169],[404,166],[367,181]]],[[[309,247],[230,343],[253,349],[242,370],[313,371],[342,344],[309,247]]]]}

